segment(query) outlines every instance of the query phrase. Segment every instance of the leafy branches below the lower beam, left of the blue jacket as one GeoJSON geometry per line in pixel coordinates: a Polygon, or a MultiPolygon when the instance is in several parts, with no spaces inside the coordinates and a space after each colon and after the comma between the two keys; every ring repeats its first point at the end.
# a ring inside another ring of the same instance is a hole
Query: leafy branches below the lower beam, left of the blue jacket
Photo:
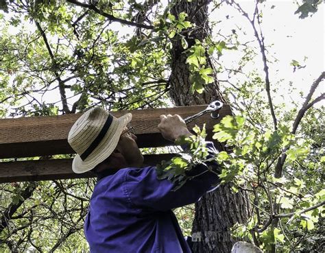
{"type": "Polygon", "coordinates": [[[1,228],[1,252],[19,248],[20,252],[36,248],[38,252],[78,252],[86,249],[82,222],[95,180],[56,180],[1,185],[1,213],[5,206],[21,200],[21,194],[35,184],[32,197],[12,217],[10,226],[1,228]],[[26,228],[29,228],[28,230],[26,228]],[[69,240],[66,239],[69,237],[69,240]],[[4,242],[4,243],[3,243],[4,242]],[[9,243],[8,243],[9,242],[9,243]]]}

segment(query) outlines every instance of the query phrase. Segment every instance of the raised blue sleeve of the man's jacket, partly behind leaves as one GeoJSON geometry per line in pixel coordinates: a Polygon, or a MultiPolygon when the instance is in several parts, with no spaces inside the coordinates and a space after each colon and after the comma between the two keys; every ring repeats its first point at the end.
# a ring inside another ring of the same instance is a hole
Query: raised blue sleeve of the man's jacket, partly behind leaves
{"type": "MultiPolygon", "coordinates": [[[[210,156],[214,155],[215,147],[207,145],[210,156]]],[[[207,165],[219,173],[219,166],[215,162],[207,165]]],[[[139,208],[153,208],[154,210],[170,210],[187,204],[195,203],[211,189],[212,184],[219,182],[219,177],[208,171],[206,165],[198,165],[189,171],[189,176],[196,176],[187,180],[180,189],[173,190],[173,183],[167,179],[158,180],[156,167],[131,169],[125,175],[125,193],[130,202],[139,208]]]]}

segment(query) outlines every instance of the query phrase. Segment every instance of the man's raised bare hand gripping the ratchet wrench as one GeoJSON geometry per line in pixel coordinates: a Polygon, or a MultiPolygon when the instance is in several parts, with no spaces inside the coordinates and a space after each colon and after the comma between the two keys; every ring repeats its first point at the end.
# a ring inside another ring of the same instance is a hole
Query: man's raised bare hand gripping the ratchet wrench
{"type": "Polygon", "coordinates": [[[176,141],[180,136],[193,135],[187,129],[185,121],[180,115],[160,115],[158,129],[163,137],[169,141],[176,141]]]}

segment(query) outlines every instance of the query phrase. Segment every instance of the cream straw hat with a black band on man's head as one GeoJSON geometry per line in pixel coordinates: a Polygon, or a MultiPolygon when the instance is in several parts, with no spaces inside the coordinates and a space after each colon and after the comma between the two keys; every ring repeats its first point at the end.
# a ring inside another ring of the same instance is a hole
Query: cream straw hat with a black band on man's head
{"type": "Polygon", "coordinates": [[[77,153],[72,170],[84,173],[108,158],[131,119],[131,113],[117,119],[100,107],[86,111],[75,121],[68,136],[69,144],[77,153]]]}

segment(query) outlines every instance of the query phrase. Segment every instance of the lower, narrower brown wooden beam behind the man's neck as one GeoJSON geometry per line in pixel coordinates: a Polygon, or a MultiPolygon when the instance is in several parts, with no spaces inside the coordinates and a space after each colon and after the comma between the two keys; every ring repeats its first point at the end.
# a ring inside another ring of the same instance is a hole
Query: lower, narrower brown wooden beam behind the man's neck
{"type": "MultiPolygon", "coordinates": [[[[145,155],[144,164],[156,166],[158,162],[170,160],[173,156],[176,154],[145,155]]],[[[95,177],[91,172],[73,173],[71,165],[72,159],[0,162],[0,183],[95,177]]]]}

